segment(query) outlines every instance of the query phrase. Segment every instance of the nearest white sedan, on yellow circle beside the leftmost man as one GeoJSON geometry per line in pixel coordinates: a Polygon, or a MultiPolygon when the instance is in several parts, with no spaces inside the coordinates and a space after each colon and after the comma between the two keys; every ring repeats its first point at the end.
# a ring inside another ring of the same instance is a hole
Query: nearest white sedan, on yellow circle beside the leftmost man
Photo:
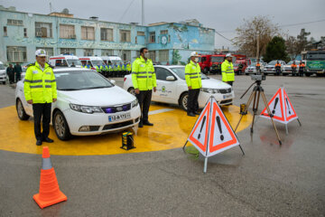
{"type": "MultiPolygon", "coordinates": [[[[61,140],[122,131],[140,121],[140,107],[132,94],[102,75],[82,68],[54,70],[58,99],[52,103],[51,124],[61,140]]],[[[32,116],[23,94],[23,80],[15,90],[16,109],[22,120],[32,116]]]]}

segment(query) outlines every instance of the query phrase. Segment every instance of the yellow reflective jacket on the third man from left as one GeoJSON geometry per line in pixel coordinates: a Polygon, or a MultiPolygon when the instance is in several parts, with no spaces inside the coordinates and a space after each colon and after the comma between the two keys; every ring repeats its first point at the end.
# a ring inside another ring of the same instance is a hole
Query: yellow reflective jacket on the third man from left
{"type": "Polygon", "coordinates": [[[188,87],[191,87],[191,89],[200,89],[202,87],[199,63],[190,61],[190,63],[185,66],[185,80],[188,87]]]}

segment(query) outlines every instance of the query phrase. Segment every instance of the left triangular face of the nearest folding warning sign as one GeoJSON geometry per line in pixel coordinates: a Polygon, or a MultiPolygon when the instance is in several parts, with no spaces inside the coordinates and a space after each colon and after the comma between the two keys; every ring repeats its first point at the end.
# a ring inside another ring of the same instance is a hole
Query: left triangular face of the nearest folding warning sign
{"type": "Polygon", "coordinates": [[[206,156],[207,154],[210,105],[211,103],[208,102],[204,107],[192,131],[190,132],[190,137],[188,138],[190,143],[193,146],[196,146],[203,156],[206,156]]]}

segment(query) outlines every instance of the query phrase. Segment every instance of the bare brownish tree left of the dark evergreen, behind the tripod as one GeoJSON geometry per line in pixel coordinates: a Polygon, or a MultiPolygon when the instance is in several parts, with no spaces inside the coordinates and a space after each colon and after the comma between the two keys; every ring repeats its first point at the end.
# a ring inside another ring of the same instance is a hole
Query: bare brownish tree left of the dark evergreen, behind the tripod
{"type": "Polygon", "coordinates": [[[279,27],[272,24],[267,16],[258,15],[252,19],[244,19],[244,24],[237,27],[235,45],[241,52],[260,58],[265,54],[266,45],[275,35],[279,35],[279,27]],[[257,48],[258,47],[258,48],[257,48]]]}

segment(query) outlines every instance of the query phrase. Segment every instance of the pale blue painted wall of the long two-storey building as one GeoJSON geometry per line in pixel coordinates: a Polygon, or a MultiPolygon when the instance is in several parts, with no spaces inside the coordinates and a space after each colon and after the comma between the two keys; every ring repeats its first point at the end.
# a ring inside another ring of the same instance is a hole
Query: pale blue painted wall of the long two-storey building
{"type": "MultiPolygon", "coordinates": [[[[53,49],[53,55],[60,54],[60,48],[76,49],[77,56],[84,55],[84,49],[93,49],[94,55],[101,56],[102,50],[112,50],[114,54],[121,55],[122,51],[130,51],[131,59],[138,56],[138,51],[146,46],[149,51],[155,51],[156,60],[160,51],[168,51],[168,63],[184,63],[188,60],[190,52],[212,53],[214,51],[215,31],[209,28],[190,26],[186,24],[158,24],[153,26],[141,26],[135,24],[116,24],[111,22],[94,21],[79,18],[67,18],[44,14],[28,14],[13,11],[0,11],[0,24],[7,29],[0,28],[0,61],[7,61],[7,46],[26,47],[26,62],[34,61],[34,52],[38,47],[53,49]],[[23,20],[23,25],[9,25],[7,19],[23,20]],[[35,22],[51,23],[52,37],[42,38],[35,36],[35,22]],[[75,26],[75,39],[60,38],[60,24],[75,26]],[[93,26],[95,28],[95,40],[81,39],[81,26],[93,26]],[[23,29],[27,28],[27,37],[23,36],[23,29]],[[100,28],[113,29],[113,42],[100,40],[100,28]],[[120,42],[120,30],[131,32],[131,42],[120,42]],[[168,30],[167,34],[160,34],[168,30]],[[144,32],[144,36],[137,35],[144,32]],[[149,42],[149,33],[155,32],[155,42],[149,42]],[[162,42],[162,37],[169,40],[162,42]],[[136,38],[136,39],[135,39],[136,38]]],[[[163,64],[167,61],[161,61],[163,64]]]]}

